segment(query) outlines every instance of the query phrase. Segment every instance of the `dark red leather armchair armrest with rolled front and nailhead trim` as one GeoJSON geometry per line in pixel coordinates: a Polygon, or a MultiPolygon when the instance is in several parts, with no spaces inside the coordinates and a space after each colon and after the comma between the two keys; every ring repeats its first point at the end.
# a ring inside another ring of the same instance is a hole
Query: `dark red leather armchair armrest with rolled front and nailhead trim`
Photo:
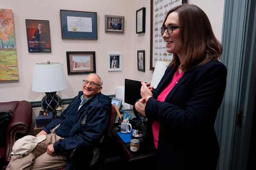
{"type": "Polygon", "coordinates": [[[28,101],[20,101],[17,103],[15,110],[12,110],[12,120],[9,123],[6,131],[6,157],[5,160],[10,160],[10,153],[14,142],[19,138],[19,135],[29,133],[32,123],[32,107],[28,101]]]}

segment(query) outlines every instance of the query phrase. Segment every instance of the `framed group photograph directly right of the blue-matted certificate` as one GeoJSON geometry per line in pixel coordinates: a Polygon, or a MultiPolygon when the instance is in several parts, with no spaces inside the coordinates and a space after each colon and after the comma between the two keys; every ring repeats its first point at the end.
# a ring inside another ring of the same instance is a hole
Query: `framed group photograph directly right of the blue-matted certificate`
{"type": "Polygon", "coordinates": [[[124,33],[125,17],[105,15],[105,32],[124,33]]]}

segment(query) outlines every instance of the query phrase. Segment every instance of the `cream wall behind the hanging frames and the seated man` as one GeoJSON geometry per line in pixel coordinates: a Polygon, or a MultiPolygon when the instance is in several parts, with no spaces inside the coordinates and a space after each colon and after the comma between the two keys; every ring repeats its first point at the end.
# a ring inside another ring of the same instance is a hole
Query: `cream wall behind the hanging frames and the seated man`
{"type": "MultiPolygon", "coordinates": [[[[188,0],[201,7],[212,23],[213,31],[221,40],[224,0],[188,0]],[[218,13],[216,12],[218,11],[218,13]]],[[[17,60],[20,80],[0,81],[0,102],[12,100],[40,101],[44,93],[31,90],[35,62],[63,62],[68,88],[58,91],[61,98],[72,98],[81,90],[87,75],[67,75],[66,51],[95,51],[96,73],[104,82],[102,92],[115,94],[115,87],[124,85],[124,79],[151,81],[150,63],[150,1],[149,0],[32,0],[1,1],[0,8],[12,9],[15,23],[17,60]],[[136,34],[136,10],[146,8],[145,33],[136,34]],[[98,40],[61,39],[60,9],[97,12],[98,40]],[[125,33],[105,33],[105,14],[125,17],[125,33]],[[52,53],[29,53],[25,19],[49,20],[52,53]],[[145,72],[137,71],[137,50],[145,50],[145,72]],[[122,71],[108,71],[108,54],[122,54],[122,71]]],[[[45,81],[46,83],[47,80],[45,81]]],[[[66,108],[63,105],[63,108],[66,108]]],[[[33,108],[33,119],[41,108],[33,108]]],[[[34,122],[32,127],[34,126],[34,122]]]]}

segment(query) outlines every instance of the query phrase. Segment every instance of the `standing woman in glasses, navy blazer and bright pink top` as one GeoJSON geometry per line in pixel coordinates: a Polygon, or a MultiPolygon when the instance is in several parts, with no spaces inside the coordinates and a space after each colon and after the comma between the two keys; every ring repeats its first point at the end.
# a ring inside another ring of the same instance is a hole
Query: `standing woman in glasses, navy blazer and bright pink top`
{"type": "Polygon", "coordinates": [[[157,148],[157,169],[215,170],[219,145],[214,130],[226,87],[222,46],[198,6],[172,8],[161,28],[173,53],[156,89],[143,82],[134,110],[148,118],[147,138],[157,148]]]}

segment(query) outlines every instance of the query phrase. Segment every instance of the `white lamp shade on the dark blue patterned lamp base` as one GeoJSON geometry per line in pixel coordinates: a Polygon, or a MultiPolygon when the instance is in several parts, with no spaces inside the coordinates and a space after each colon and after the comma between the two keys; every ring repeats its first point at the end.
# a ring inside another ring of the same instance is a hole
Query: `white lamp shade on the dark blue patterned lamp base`
{"type": "Polygon", "coordinates": [[[67,88],[67,80],[61,62],[38,62],[34,64],[32,91],[54,92],[67,88]]]}

